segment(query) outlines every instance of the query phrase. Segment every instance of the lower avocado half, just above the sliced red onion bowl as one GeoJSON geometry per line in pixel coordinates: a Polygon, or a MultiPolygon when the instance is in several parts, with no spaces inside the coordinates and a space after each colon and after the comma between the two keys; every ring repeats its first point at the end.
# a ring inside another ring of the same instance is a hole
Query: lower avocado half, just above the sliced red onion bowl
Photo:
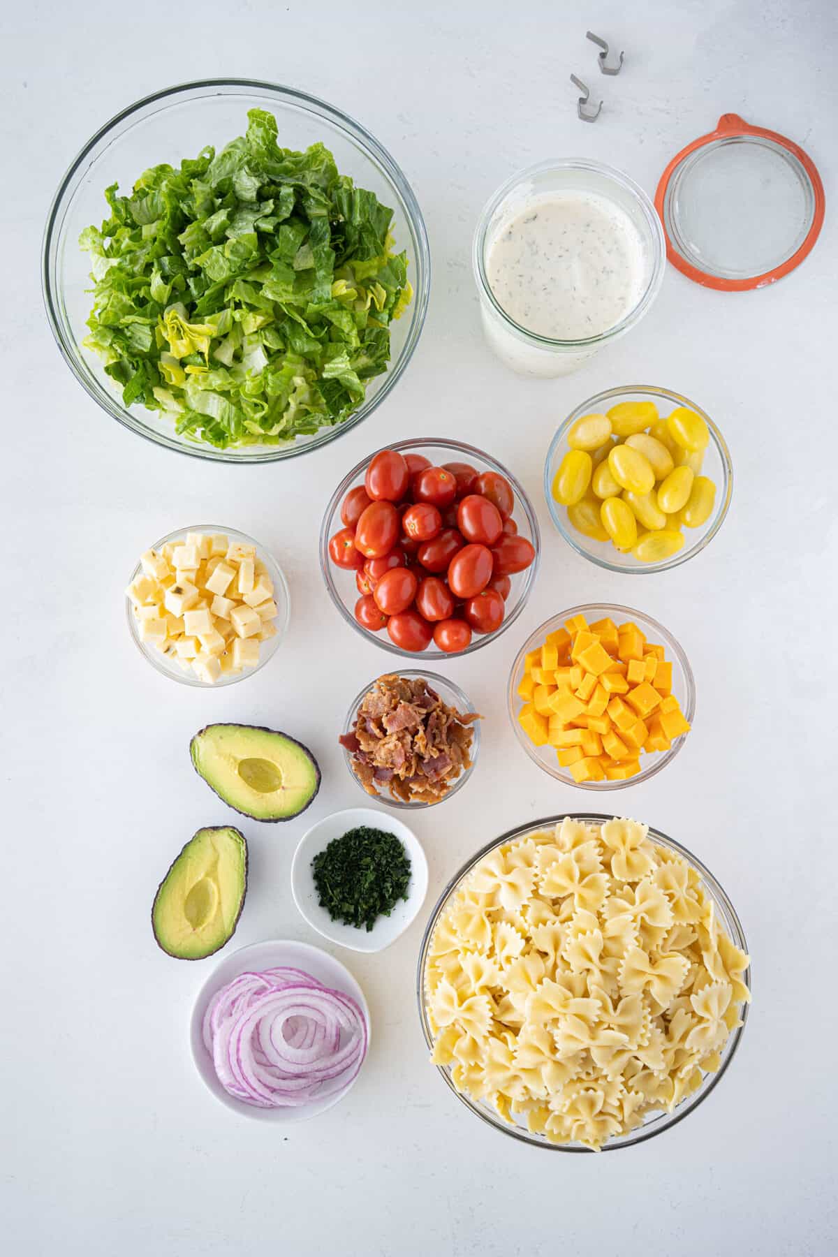
{"type": "Polygon", "coordinates": [[[248,843],[227,826],[199,830],[161,881],[151,910],[157,943],[201,960],[232,938],[248,890],[248,843]]]}

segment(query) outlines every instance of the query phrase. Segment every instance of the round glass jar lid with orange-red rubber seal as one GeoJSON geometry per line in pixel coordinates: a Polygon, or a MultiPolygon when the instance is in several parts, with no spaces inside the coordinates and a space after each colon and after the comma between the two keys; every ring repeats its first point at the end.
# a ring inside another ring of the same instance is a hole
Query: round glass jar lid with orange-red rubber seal
{"type": "Polygon", "coordinates": [[[672,158],[655,206],[673,266],[707,288],[744,292],[800,265],[820,234],[824,195],[798,145],[725,113],[672,158]]]}

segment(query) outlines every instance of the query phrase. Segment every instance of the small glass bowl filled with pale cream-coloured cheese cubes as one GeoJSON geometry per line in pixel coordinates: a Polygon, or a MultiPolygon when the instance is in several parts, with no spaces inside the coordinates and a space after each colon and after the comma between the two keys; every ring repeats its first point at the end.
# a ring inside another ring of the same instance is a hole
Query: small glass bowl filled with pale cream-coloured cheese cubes
{"type": "Polygon", "coordinates": [[[126,590],[142,655],[185,685],[231,685],[263,667],[288,627],[281,568],[246,533],[196,524],[155,542],[126,590]]]}

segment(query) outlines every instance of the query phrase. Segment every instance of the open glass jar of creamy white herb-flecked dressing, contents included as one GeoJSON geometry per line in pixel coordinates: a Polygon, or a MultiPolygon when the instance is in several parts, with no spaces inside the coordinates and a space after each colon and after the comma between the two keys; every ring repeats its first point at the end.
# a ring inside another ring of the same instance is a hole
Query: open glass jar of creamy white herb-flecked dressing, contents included
{"type": "Polygon", "coordinates": [[[623,336],[657,295],[661,221],[628,176],[599,162],[541,162],[484,209],[474,239],[484,332],[501,362],[563,376],[623,336]]]}

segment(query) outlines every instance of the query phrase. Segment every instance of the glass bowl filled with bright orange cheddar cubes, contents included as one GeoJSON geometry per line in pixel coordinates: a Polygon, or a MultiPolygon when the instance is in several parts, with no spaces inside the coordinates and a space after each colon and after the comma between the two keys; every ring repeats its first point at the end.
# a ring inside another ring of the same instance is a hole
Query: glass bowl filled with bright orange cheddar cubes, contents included
{"type": "Polygon", "coordinates": [[[660,773],[695,715],[692,669],[651,616],[616,603],[570,607],[524,642],[509,678],[515,735],[568,786],[622,789],[660,773]]]}

